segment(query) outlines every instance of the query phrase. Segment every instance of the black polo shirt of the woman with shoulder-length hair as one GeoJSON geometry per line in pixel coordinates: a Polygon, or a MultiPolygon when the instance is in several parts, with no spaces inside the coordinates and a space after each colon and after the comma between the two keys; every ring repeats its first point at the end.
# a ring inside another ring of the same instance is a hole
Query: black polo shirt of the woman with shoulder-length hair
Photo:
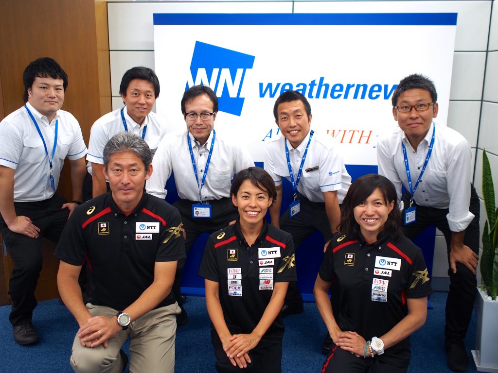
{"type": "MultiPolygon", "coordinates": [[[[322,280],[339,281],[337,324],[366,341],[381,337],[407,314],[407,298],[432,294],[422,251],[406,237],[384,235],[369,245],[361,237],[336,234],[319,272],[322,280]]],[[[397,367],[410,361],[410,338],[386,349],[375,359],[397,367]]]]}

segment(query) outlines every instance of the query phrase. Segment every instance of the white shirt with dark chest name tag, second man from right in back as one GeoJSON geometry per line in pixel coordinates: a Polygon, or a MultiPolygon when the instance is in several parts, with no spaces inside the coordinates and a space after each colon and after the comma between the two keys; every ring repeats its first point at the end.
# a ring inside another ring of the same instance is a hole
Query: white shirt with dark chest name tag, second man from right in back
{"type": "MultiPolygon", "coordinates": [[[[264,170],[270,174],[276,186],[282,184],[282,178],[290,181],[290,173],[285,156],[285,142],[289,149],[289,159],[292,165],[294,181],[297,178],[301,160],[308,145],[309,134],[294,149],[292,145],[280,136],[266,144],[264,149],[264,170]]],[[[344,167],[344,158],[334,147],[335,143],[329,136],[314,132],[311,138],[306,160],[304,161],[301,179],[297,186],[299,193],[310,201],[324,202],[323,192],[337,190],[339,203],[342,203],[351,185],[351,176],[344,167]],[[308,171],[318,167],[317,170],[308,171]]]]}

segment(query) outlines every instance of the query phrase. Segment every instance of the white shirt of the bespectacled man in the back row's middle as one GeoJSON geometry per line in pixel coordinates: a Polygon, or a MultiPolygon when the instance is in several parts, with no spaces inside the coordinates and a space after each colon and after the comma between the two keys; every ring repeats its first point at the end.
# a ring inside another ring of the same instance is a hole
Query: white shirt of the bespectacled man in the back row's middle
{"type": "MultiPolygon", "coordinates": [[[[171,176],[171,172],[174,172],[178,196],[181,199],[198,201],[199,187],[202,183],[212,141],[213,132],[204,145],[200,145],[186,130],[168,134],[160,142],[152,159],[153,172],[145,185],[147,193],[164,198],[167,193],[164,186],[171,176]],[[187,136],[190,136],[192,152],[197,165],[198,183],[195,180],[187,136]]],[[[230,187],[232,187],[234,174],[253,166],[254,162],[246,149],[241,148],[234,141],[223,140],[217,133],[206,182],[202,187],[202,200],[230,197],[230,187]]]]}

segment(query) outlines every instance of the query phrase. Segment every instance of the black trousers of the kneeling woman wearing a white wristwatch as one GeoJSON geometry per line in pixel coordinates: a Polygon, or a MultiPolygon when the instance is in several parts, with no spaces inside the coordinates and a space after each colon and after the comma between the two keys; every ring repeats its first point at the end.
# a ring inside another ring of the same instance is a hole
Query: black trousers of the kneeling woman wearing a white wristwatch
{"type": "MultiPolygon", "coordinates": [[[[369,351],[370,355],[370,351],[369,351]]],[[[399,368],[379,360],[378,357],[356,357],[332,344],[332,349],[322,367],[322,373],[406,373],[408,368],[399,368]]]]}

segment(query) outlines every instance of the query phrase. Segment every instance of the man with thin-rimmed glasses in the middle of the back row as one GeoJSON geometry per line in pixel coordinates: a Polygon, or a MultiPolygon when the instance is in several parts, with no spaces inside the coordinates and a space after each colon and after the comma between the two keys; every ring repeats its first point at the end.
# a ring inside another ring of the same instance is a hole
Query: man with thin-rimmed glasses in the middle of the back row
{"type": "MultiPolygon", "coordinates": [[[[168,134],[159,144],[152,166],[154,173],[146,183],[147,192],[165,198],[166,181],[175,175],[180,211],[185,228],[185,252],[204,232],[213,233],[239,217],[230,198],[234,174],[253,167],[249,152],[232,140],[223,139],[214,130],[218,97],[208,86],[193,86],[181,100],[187,130],[168,134]]],[[[178,262],[173,293],[182,309],[178,323],[188,321],[180,294],[181,271],[185,260],[178,262]]]]}

